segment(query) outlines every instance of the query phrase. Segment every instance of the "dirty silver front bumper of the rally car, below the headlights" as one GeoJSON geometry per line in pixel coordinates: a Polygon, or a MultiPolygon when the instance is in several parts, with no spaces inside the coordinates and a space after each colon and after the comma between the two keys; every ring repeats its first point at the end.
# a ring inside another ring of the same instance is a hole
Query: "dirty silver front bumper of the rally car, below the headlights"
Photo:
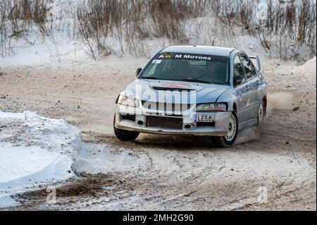
{"type": "MultiPolygon", "coordinates": [[[[189,109],[192,110],[192,109],[189,109]]],[[[193,112],[193,110],[192,110],[193,112]]],[[[164,113],[157,114],[158,118],[182,118],[181,128],[166,128],[158,126],[147,126],[148,116],[153,116],[154,111],[145,109],[135,109],[134,107],[127,107],[117,104],[116,106],[116,123],[115,128],[129,131],[137,131],[139,133],[153,133],[153,134],[166,134],[166,135],[210,135],[210,136],[225,136],[228,133],[230,111],[225,112],[213,112],[213,113],[199,113],[199,115],[213,115],[214,120],[212,126],[199,126],[195,121],[195,114],[189,113],[191,116],[167,116],[164,113]],[[135,121],[125,119],[123,115],[135,115],[135,121]],[[138,121],[142,121],[143,124],[139,124],[138,121]],[[186,125],[190,125],[190,128],[186,128],[186,125]]],[[[200,124],[201,125],[201,124],[200,124]]]]}

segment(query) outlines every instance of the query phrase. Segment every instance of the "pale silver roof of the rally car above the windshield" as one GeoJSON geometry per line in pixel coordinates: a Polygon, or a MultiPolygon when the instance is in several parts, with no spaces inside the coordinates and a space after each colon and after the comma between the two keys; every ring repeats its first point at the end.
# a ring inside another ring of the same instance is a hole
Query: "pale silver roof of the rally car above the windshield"
{"type": "Polygon", "coordinates": [[[213,56],[230,56],[236,49],[229,47],[215,47],[205,45],[174,45],[162,49],[161,52],[175,52],[187,54],[206,54],[213,56]]]}

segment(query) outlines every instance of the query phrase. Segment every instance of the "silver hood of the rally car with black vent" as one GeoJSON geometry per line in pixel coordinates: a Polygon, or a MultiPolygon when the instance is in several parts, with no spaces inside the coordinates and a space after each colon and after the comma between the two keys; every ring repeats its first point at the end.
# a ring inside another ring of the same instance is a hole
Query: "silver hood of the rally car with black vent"
{"type": "Polygon", "coordinates": [[[187,103],[199,104],[216,102],[218,97],[229,88],[229,85],[137,79],[121,92],[121,95],[149,102],[177,104],[187,101],[187,103]],[[174,97],[170,97],[171,95],[174,97]]]}

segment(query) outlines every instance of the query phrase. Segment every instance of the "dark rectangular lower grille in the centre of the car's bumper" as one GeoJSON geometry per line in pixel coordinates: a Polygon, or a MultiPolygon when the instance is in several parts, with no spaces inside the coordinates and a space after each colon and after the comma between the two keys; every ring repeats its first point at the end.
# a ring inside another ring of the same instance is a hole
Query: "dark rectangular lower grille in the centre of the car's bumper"
{"type": "Polygon", "coordinates": [[[182,118],[147,116],[147,126],[182,129],[182,118]]]}

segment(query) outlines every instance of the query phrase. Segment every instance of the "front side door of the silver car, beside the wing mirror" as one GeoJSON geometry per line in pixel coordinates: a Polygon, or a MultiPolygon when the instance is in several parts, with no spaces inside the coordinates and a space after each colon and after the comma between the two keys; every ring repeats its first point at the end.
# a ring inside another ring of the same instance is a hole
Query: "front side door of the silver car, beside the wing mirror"
{"type": "Polygon", "coordinates": [[[240,60],[239,54],[234,58],[234,77],[236,75],[241,75],[243,77],[243,82],[240,85],[235,86],[237,92],[237,118],[239,123],[243,123],[249,120],[249,109],[247,103],[249,100],[249,84],[245,78],[244,66],[240,60]]]}

